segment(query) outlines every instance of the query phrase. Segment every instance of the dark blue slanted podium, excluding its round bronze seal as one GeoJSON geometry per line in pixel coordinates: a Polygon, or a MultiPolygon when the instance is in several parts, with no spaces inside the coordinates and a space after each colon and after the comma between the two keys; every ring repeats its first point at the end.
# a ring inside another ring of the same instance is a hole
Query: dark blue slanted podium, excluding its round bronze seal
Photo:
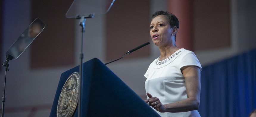
{"type": "MultiPolygon", "coordinates": [[[[159,116],[99,59],[91,59],[83,63],[83,66],[84,76],[82,81],[80,81],[82,83],[80,116],[159,116]]],[[[79,72],[79,66],[61,74],[50,117],[56,117],[60,92],[65,81],[73,72],[79,72]]],[[[76,117],[77,114],[78,111],[76,109],[74,116],[76,117]]]]}

